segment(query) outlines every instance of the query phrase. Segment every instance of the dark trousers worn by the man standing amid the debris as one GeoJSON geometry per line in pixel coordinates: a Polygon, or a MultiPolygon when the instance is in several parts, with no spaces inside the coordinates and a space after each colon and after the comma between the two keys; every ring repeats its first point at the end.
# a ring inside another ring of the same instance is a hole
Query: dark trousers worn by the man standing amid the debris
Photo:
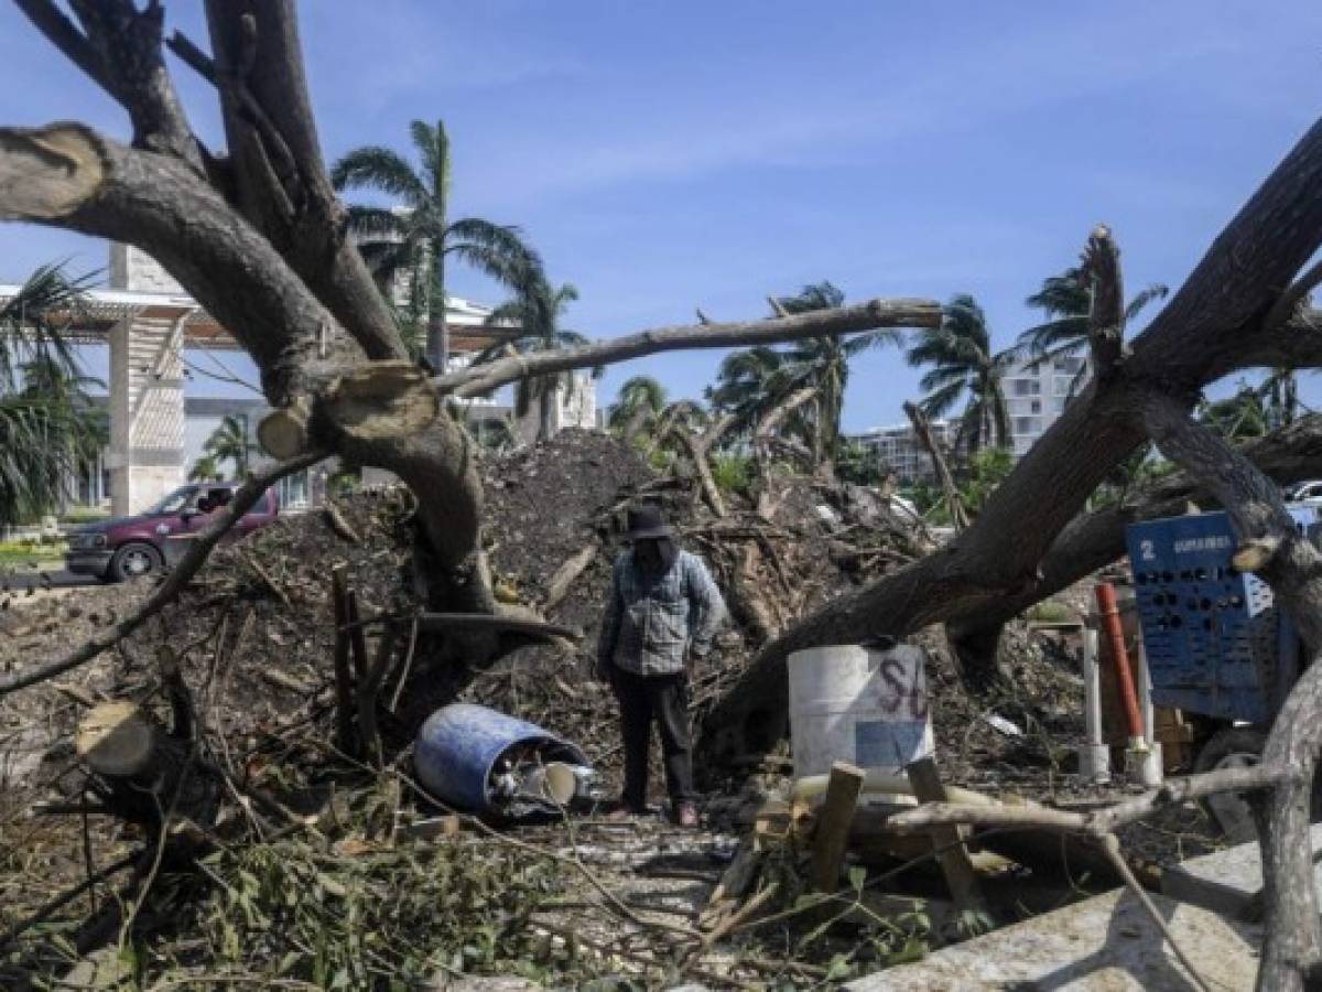
{"type": "Polygon", "coordinates": [[[635,675],[612,668],[624,735],[624,804],[641,809],[648,799],[648,749],[652,721],[661,731],[665,784],[672,803],[697,799],[693,790],[693,743],[689,734],[689,676],[635,675]]]}

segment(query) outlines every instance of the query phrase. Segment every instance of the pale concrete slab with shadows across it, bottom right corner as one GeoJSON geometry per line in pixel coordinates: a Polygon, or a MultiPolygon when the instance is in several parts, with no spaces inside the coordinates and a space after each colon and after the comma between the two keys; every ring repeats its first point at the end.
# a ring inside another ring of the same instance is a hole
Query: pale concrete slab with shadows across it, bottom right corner
{"type": "MultiPolygon", "coordinates": [[[[1252,989],[1261,929],[1154,895],[1199,973],[1252,989]]],[[[851,981],[853,992],[1191,992],[1192,981],[1128,890],[1097,895],[920,962],[851,981]]]]}

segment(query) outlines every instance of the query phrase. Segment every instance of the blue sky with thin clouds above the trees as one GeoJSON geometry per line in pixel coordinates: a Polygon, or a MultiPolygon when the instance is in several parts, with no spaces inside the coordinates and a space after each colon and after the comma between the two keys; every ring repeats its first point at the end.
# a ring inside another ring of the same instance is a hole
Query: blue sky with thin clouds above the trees
{"type": "MultiPolygon", "coordinates": [[[[167,0],[202,41],[200,7],[167,0]]],[[[1322,4],[1305,0],[316,0],[303,36],[328,157],[403,148],[408,120],[443,118],[456,210],[522,226],[595,337],[694,307],[758,316],[767,294],[830,279],[853,300],[972,292],[1009,344],[1099,221],[1132,290],[1178,286],[1322,82],[1322,4]]],[[[175,67],[214,139],[213,97],[175,67]]],[[[0,122],[59,118],[127,134],[0,5],[0,122]]],[[[63,255],[104,265],[89,239],[0,226],[0,280],[63,255]]],[[[452,291],[500,295],[468,272],[452,291]]],[[[697,395],[719,357],[620,365],[603,394],[645,370],[697,395]]],[[[894,351],[862,358],[846,427],[899,419],[916,380],[894,351]]]]}

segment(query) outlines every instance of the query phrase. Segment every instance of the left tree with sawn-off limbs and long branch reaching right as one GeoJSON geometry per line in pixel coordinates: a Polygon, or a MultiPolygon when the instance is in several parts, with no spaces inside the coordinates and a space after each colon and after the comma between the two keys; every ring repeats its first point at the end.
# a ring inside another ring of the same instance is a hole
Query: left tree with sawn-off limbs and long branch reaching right
{"type": "MultiPolygon", "coordinates": [[[[238,340],[275,413],[259,435],[278,458],[319,450],[394,472],[418,497],[428,603],[493,612],[481,553],[475,450],[442,402],[531,376],[676,348],[723,348],[879,327],[928,327],[925,300],[644,331],[584,348],[510,357],[435,380],[406,361],[389,307],[348,238],[311,110],[293,0],[209,0],[212,53],[164,11],[132,0],[16,0],[29,20],[128,114],[132,143],[78,123],[0,128],[0,218],[136,245],[238,340]],[[163,44],[217,90],[227,153],[194,135],[163,44]]],[[[471,636],[471,635],[464,635],[471,636]]],[[[510,647],[476,641],[479,656],[510,647]]]]}

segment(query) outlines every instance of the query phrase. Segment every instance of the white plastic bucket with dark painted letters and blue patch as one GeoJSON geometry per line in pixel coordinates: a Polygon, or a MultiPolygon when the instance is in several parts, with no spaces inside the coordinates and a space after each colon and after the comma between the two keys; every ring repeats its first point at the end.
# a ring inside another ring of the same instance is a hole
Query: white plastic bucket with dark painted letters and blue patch
{"type": "Polygon", "coordinates": [[[789,656],[795,778],[832,762],[900,771],[935,750],[921,648],[837,644],[789,656]]]}

